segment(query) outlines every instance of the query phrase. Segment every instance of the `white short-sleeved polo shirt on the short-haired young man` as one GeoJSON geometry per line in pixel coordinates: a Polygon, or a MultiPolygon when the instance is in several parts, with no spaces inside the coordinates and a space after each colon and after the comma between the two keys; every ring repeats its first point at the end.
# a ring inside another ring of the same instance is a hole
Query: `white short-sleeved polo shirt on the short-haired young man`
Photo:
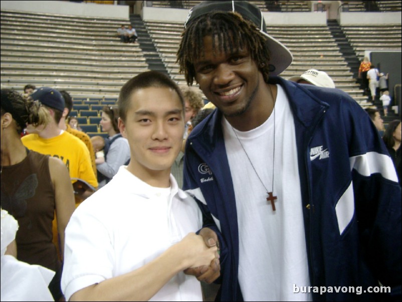
{"type": "MultiPolygon", "coordinates": [[[[133,271],[152,261],[189,232],[202,227],[194,200],[177,188],[155,188],[123,166],[85,200],[66,228],[62,290],[71,295],[89,285],[133,271]]],[[[200,283],[183,272],[150,300],[202,301],[200,283]]]]}

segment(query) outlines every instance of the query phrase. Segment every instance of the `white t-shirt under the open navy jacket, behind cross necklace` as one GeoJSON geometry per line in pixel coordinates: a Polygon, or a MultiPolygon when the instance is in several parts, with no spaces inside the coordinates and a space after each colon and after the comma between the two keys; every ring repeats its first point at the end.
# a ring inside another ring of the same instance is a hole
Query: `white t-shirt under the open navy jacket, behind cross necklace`
{"type": "Polygon", "coordinates": [[[261,126],[241,132],[223,119],[239,225],[239,283],[245,301],[312,300],[311,294],[293,293],[293,284],[309,286],[310,280],[293,115],[282,87],[277,87],[276,112],[261,126]],[[274,119],[276,211],[234,133],[271,192],[274,119]]]}

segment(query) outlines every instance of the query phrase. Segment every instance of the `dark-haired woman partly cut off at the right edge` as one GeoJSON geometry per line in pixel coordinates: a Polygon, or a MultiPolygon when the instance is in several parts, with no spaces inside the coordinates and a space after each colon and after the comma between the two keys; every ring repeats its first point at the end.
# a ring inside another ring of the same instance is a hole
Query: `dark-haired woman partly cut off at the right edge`
{"type": "Polygon", "coordinates": [[[392,158],[392,162],[393,165],[395,166],[400,186],[400,178],[402,170],[401,149],[400,149],[400,140],[401,140],[400,120],[395,119],[388,124],[384,132],[384,135],[382,136],[382,140],[384,141],[386,148],[388,149],[389,155],[392,158]]]}

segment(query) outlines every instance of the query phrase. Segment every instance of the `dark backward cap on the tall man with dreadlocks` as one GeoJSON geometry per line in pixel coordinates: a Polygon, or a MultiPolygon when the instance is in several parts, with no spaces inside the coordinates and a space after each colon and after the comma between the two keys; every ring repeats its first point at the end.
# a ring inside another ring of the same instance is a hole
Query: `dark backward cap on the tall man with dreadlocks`
{"type": "Polygon", "coordinates": [[[269,62],[271,75],[279,75],[292,63],[293,56],[289,49],[267,33],[267,26],[260,9],[247,1],[202,1],[189,11],[184,28],[196,18],[212,11],[236,12],[256,25],[267,38],[267,47],[271,53],[269,62]]]}

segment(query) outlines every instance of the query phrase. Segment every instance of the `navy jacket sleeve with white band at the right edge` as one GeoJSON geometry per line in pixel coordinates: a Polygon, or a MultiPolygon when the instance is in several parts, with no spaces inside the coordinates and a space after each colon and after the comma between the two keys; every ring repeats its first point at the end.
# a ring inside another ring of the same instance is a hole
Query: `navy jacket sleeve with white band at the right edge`
{"type": "MultiPolygon", "coordinates": [[[[350,105],[359,106],[355,102],[350,105]]],[[[402,235],[398,179],[374,124],[361,108],[353,111],[358,114],[347,119],[354,131],[347,136],[360,244],[366,247],[365,258],[378,280],[391,287],[391,295],[400,298],[402,235]]]]}

